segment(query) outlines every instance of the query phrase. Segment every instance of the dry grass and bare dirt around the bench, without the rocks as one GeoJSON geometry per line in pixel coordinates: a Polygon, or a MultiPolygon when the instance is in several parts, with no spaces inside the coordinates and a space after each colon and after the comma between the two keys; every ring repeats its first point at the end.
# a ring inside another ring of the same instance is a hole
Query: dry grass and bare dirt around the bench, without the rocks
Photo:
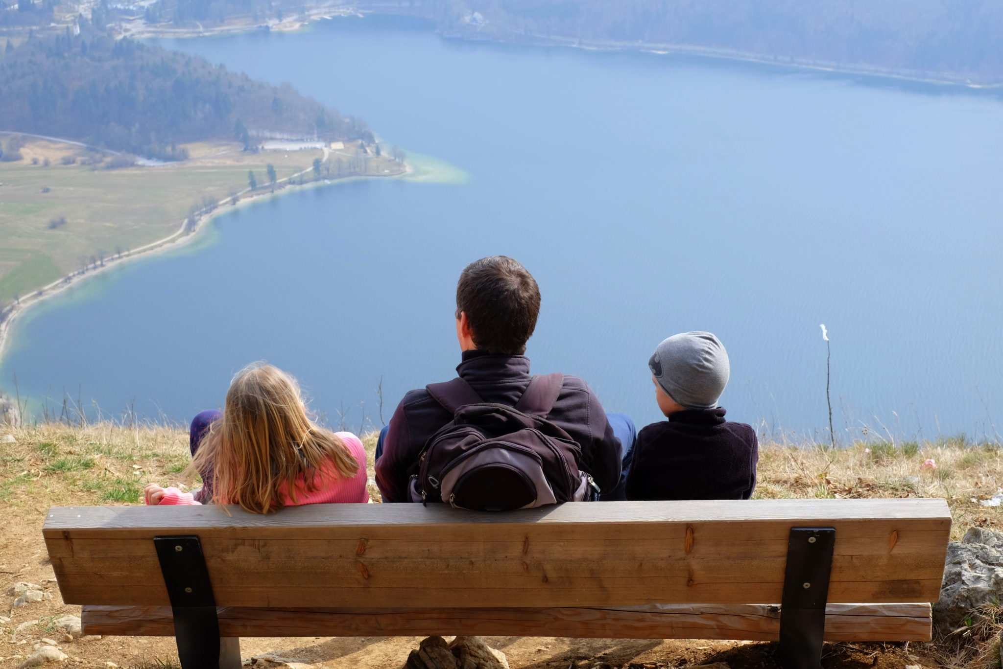
{"type": "MultiPolygon", "coordinates": [[[[79,607],[59,601],[40,528],[51,506],[134,505],[146,482],[193,484],[183,471],[190,462],[188,430],[183,426],[84,426],[46,424],[24,428],[0,426],[0,575],[3,589],[16,581],[43,586],[53,599],[13,612],[0,612],[0,632],[12,645],[0,649],[0,669],[16,667],[39,638],[54,634],[53,621],[79,615],[79,607]],[[20,642],[24,641],[24,644],[20,642]]],[[[372,452],[376,435],[363,441],[372,452]]],[[[960,537],[973,525],[1003,529],[1000,513],[977,503],[996,491],[1003,471],[1000,444],[974,444],[963,438],[922,444],[857,444],[830,451],[763,444],[757,497],[899,497],[943,496],[960,537]],[[923,468],[935,459],[936,469],[923,468]]],[[[370,485],[373,500],[379,499],[370,485]]],[[[9,604],[9,601],[8,601],[9,604]]],[[[998,631],[997,631],[998,634],[998,631]]],[[[328,669],[385,669],[403,664],[418,639],[244,639],[245,657],[279,651],[287,658],[328,669]]],[[[772,667],[771,644],[750,642],[508,639],[495,642],[514,669],[658,669],[724,661],[731,669],[772,667]]],[[[939,639],[932,644],[833,644],[826,650],[826,669],[990,669],[987,644],[972,638],[939,639]],[[960,641],[960,643],[959,643],[960,641]],[[982,659],[977,659],[979,654],[982,659]]],[[[73,667],[100,667],[114,662],[125,669],[175,669],[173,639],[114,638],[72,642],[63,646],[73,667]]],[[[998,655],[998,652],[997,652],[998,655]]],[[[262,664],[260,666],[275,666],[262,664]]]]}

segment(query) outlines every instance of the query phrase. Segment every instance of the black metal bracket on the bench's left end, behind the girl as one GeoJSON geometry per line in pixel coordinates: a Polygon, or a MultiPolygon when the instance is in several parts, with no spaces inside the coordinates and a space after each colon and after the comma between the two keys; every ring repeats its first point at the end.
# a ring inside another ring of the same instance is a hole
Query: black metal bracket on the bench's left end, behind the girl
{"type": "Polygon", "coordinates": [[[154,537],[163,584],[175,616],[182,669],[238,669],[240,639],[220,637],[216,598],[198,537],[154,537]]]}

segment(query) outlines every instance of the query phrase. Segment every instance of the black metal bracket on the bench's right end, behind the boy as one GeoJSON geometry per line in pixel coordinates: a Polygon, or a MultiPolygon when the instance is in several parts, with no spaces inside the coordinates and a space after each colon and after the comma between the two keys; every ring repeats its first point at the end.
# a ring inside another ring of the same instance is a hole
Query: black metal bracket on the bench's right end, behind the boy
{"type": "Polygon", "coordinates": [[[825,603],[832,571],[833,528],[791,528],[780,602],[783,669],[820,669],[825,636],[825,603]]]}

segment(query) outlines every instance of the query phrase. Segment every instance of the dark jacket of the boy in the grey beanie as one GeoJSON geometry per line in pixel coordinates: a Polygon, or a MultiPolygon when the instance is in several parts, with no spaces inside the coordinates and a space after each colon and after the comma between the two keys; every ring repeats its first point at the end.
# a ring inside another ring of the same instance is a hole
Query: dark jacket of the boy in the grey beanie
{"type": "Polygon", "coordinates": [[[755,489],[755,430],[724,409],[686,409],[637,435],[628,499],[748,499],[755,489]]]}

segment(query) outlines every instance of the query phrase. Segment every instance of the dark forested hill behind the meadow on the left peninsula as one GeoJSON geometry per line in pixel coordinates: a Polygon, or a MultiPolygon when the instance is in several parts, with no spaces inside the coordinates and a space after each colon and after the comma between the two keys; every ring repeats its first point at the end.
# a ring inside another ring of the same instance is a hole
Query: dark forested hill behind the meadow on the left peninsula
{"type": "Polygon", "coordinates": [[[372,136],[288,84],[97,32],[36,37],[0,53],[0,130],[162,159],[182,157],[177,144],[203,139],[372,136]]]}

